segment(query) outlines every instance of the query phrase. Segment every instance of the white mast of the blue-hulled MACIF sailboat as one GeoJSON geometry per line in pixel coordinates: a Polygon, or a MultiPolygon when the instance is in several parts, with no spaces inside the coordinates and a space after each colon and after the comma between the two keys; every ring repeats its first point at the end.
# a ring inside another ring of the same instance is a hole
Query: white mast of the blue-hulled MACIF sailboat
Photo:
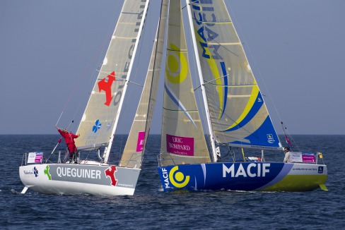
{"type": "Polygon", "coordinates": [[[205,113],[206,113],[207,128],[209,128],[209,138],[211,141],[212,158],[213,158],[214,162],[217,162],[218,157],[217,157],[217,152],[216,152],[216,145],[214,143],[215,142],[214,132],[213,132],[212,125],[211,125],[211,117],[209,114],[209,106],[207,104],[206,90],[204,87],[204,78],[203,78],[202,72],[201,72],[201,64],[200,64],[199,57],[197,56],[197,54],[198,54],[197,39],[194,35],[193,19],[192,19],[192,12],[190,10],[189,0],[186,0],[186,4],[187,4],[187,11],[188,11],[189,28],[190,28],[190,32],[192,34],[194,54],[195,54],[195,59],[197,61],[197,69],[198,69],[199,80],[200,80],[200,85],[201,85],[202,100],[204,102],[204,108],[205,108],[205,113]]]}

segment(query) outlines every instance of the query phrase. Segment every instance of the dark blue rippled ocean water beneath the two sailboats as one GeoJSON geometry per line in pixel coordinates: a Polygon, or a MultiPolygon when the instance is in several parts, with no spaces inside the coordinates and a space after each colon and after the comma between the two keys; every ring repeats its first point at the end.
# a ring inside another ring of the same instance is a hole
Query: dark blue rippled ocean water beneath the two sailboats
{"type": "MultiPolygon", "coordinates": [[[[59,135],[0,135],[0,229],[344,229],[345,226],[345,135],[293,136],[302,150],[323,153],[329,174],[328,191],[163,192],[157,171],[160,135],[150,135],[133,196],[44,195],[30,190],[20,194],[23,184],[18,167],[23,153],[42,150],[49,155],[58,138],[59,135]]],[[[123,148],[124,139],[118,135],[115,145],[123,148]]]]}

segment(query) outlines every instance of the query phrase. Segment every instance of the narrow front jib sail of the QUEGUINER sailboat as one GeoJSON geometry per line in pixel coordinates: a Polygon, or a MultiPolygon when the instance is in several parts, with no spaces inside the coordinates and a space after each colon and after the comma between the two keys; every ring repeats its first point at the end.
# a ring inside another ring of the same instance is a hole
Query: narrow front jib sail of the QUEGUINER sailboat
{"type": "Polygon", "coordinates": [[[150,130],[153,108],[156,103],[160,65],[163,57],[165,24],[168,13],[168,0],[163,0],[160,8],[156,40],[153,44],[151,60],[146,74],[143,92],[131,131],[129,132],[124,153],[119,166],[127,168],[140,168],[144,155],[146,140],[150,130]]]}

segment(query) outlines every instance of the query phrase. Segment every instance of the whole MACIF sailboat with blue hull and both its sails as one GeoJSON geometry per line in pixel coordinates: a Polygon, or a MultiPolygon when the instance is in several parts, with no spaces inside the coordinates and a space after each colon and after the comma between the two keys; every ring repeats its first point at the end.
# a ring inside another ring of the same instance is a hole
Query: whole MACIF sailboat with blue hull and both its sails
{"type": "Polygon", "coordinates": [[[290,152],[288,162],[264,159],[264,150],[283,156],[283,147],[224,1],[187,0],[187,11],[210,147],[195,103],[180,1],[170,1],[158,157],[163,190],[327,190],[320,153],[290,152]],[[221,162],[222,146],[242,150],[242,159],[221,162]],[[247,149],[260,157],[245,157],[247,149]]]}

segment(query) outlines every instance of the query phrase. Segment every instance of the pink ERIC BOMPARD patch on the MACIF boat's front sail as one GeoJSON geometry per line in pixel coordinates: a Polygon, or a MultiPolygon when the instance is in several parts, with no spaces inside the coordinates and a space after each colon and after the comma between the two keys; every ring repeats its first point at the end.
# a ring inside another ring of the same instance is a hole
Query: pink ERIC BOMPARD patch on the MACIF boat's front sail
{"type": "Polygon", "coordinates": [[[194,138],[166,135],[167,151],[177,155],[194,156],[194,138]]]}

